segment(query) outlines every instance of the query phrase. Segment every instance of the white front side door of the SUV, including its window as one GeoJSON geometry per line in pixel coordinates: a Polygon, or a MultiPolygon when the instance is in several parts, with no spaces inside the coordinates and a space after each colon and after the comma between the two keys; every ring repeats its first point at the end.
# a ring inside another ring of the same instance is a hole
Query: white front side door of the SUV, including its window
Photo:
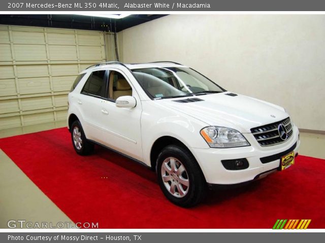
{"type": "Polygon", "coordinates": [[[110,70],[107,99],[101,105],[100,126],[104,133],[104,145],[142,161],[141,101],[131,82],[121,71],[110,70]],[[135,97],[136,107],[116,107],[115,100],[120,96],[135,97]]]}

